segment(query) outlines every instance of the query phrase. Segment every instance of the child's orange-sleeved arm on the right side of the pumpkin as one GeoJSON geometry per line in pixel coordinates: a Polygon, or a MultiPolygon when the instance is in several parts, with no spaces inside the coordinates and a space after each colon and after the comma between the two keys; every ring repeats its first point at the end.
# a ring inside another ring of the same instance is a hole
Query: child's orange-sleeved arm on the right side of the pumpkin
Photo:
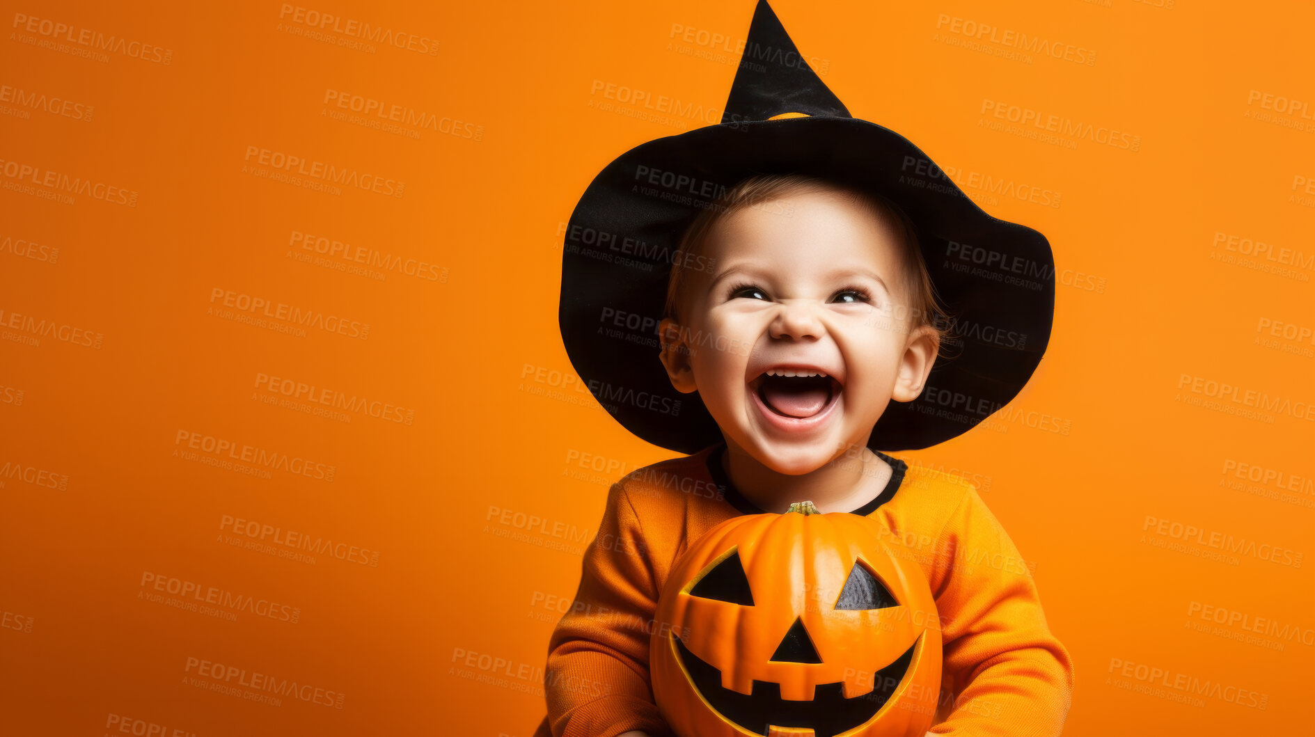
{"type": "Polygon", "coordinates": [[[940,535],[932,592],[959,698],[934,734],[1060,734],[1073,661],[1051,635],[1027,561],[969,491],[940,535]]]}

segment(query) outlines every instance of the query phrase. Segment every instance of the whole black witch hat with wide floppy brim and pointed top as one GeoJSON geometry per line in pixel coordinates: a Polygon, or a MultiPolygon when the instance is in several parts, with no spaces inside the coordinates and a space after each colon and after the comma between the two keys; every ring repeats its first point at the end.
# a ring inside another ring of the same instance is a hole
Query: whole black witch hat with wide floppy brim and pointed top
{"type": "Polygon", "coordinates": [[[897,204],[955,317],[949,349],[923,394],[886,407],[872,449],[948,440],[1022,390],[1045,352],[1055,311],[1045,236],[988,215],[906,138],[851,117],[759,0],[722,122],[621,155],[567,226],[562,339],[621,424],[685,453],[722,441],[698,395],[672,388],[658,360],[658,323],[681,234],[719,194],[761,173],[811,175],[897,204]]]}

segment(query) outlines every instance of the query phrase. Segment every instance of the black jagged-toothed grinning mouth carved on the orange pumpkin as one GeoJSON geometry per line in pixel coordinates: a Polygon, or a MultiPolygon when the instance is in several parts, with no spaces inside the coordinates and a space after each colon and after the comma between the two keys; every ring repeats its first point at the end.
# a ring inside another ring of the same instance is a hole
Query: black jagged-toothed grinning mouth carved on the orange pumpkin
{"type": "Polygon", "coordinates": [[[876,673],[872,690],[844,698],[844,682],[818,683],[813,700],[794,702],[781,698],[781,684],[753,681],[746,696],[739,691],[722,688],[722,671],[689,652],[680,637],[672,636],[672,648],[690,683],[700,696],[722,717],[757,734],[768,734],[772,726],[813,729],[814,737],[834,737],[869,721],[896,694],[909,673],[913,653],[922,636],[902,656],[876,673]]]}

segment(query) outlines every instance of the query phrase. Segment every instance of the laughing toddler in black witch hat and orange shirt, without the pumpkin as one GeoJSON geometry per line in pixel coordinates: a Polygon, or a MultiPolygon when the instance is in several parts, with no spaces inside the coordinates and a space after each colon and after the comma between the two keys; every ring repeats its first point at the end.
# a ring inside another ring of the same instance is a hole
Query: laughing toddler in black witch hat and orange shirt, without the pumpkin
{"type": "Polygon", "coordinates": [[[1053,276],[1016,284],[956,255],[1053,275],[1049,244],[851,117],[763,0],[744,56],[721,125],[622,155],[567,230],[576,370],[627,430],[690,455],[611,487],[551,637],[537,737],[669,733],[648,653],[673,562],[726,519],[802,499],[920,541],[944,658],[931,733],[1060,734],[1073,666],[1030,566],[970,483],[881,452],[960,435],[1018,394],[1053,276]],[[947,335],[947,310],[1027,340],[947,335]]]}

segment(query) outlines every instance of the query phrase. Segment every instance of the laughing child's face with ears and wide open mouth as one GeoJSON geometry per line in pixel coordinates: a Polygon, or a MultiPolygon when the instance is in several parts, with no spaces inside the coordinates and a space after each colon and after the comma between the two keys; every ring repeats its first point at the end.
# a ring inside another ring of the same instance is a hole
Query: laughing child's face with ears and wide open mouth
{"type": "Polygon", "coordinates": [[[705,242],[713,273],[690,275],[682,293],[689,355],[671,342],[675,322],[660,328],[672,384],[697,390],[726,441],[777,473],[867,445],[890,399],[917,398],[935,360],[931,328],[910,328],[897,238],[828,190],[721,218],[705,242]]]}

